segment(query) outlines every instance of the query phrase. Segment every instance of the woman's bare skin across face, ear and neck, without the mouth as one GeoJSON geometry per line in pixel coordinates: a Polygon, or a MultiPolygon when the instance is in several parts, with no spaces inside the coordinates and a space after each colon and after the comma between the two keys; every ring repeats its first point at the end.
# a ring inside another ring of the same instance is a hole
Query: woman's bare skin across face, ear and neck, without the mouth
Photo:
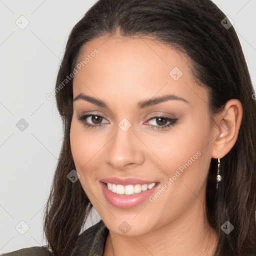
{"type": "Polygon", "coordinates": [[[79,182],[109,229],[104,256],[213,255],[217,235],[205,214],[206,178],[211,158],[222,158],[236,141],[240,101],[228,100],[211,116],[208,92],[196,83],[189,59],[152,38],[102,36],[84,45],[77,63],[94,48],[99,52],[74,77],[73,98],[83,93],[106,106],[74,100],[70,143],[79,182]],[[174,67],[182,71],[177,80],[169,75],[174,67]],[[137,105],[166,94],[187,102],[137,105]],[[84,114],[97,116],[79,120],[84,114]],[[177,120],[161,127],[170,121],[150,120],[155,116],[177,120]],[[131,124],[126,131],[118,126],[123,118],[131,124]],[[197,151],[200,156],[154,202],[122,209],[105,199],[100,179],[157,180],[161,187],[197,151]],[[123,221],[130,226],[125,234],[118,228],[123,221]]]}

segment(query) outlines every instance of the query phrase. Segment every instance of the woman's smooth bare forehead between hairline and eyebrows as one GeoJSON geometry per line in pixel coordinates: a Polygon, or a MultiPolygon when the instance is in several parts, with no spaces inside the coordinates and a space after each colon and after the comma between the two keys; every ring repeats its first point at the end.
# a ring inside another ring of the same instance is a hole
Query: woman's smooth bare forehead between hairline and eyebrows
{"type": "Polygon", "coordinates": [[[207,102],[205,89],[194,81],[189,59],[150,38],[114,35],[93,39],[82,47],[76,66],[79,63],[73,81],[74,96],[96,93],[107,102],[110,95],[131,96],[139,101],[172,93],[190,101],[207,102]]]}

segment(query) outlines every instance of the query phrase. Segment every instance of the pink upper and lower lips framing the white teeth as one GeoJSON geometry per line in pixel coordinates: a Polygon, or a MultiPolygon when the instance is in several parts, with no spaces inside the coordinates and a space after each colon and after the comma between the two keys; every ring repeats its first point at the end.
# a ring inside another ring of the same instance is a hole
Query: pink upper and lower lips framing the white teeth
{"type": "MultiPolygon", "coordinates": [[[[150,182],[148,184],[150,184],[150,182]]],[[[111,183],[111,182],[108,182],[108,183],[111,183]]],[[[115,184],[115,182],[113,182],[113,183],[115,184]]],[[[153,183],[153,182],[151,182],[151,183],[153,183]]],[[[127,209],[127,208],[135,207],[135,206],[139,205],[140,203],[142,203],[143,201],[145,201],[152,193],[154,193],[155,189],[158,187],[158,185],[160,183],[156,183],[150,189],[141,191],[139,193],[130,194],[130,195],[113,193],[112,191],[110,191],[107,188],[105,182],[100,182],[100,184],[101,184],[101,187],[103,190],[103,194],[104,194],[106,200],[110,204],[112,204],[113,206],[115,206],[117,208],[127,209]]],[[[120,184],[120,183],[117,182],[117,184],[120,184]]],[[[139,183],[135,183],[135,184],[139,184],[139,183]]],[[[147,184],[147,181],[144,184],[147,184]]]]}

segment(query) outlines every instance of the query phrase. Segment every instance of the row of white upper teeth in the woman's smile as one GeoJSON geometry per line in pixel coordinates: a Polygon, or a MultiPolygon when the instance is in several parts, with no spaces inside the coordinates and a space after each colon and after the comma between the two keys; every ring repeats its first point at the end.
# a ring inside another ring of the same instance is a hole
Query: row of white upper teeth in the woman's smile
{"type": "Polygon", "coordinates": [[[135,184],[133,185],[120,185],[120,184],[111,184],[107,183],[107,188],[108,190],[112,191],[113,193],[117,194],[134,194],[134,193],[140,193],[141,191],[145,191],[147,189],[151,189],[152,187],[155,186],[155,183],[151,184],[135,184]]]}

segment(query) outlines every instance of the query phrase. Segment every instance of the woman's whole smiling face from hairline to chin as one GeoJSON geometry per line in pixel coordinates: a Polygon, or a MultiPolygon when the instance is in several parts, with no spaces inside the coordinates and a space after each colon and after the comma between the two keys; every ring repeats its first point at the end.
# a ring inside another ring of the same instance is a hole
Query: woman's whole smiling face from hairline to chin
{"type": "Polygon", "coordinates": [[[88,42],[76,70],[72,156],[108,229],[139,235],[204,217],[217,134],[188,58],[148,38],[116,35],[88,42]]]}

